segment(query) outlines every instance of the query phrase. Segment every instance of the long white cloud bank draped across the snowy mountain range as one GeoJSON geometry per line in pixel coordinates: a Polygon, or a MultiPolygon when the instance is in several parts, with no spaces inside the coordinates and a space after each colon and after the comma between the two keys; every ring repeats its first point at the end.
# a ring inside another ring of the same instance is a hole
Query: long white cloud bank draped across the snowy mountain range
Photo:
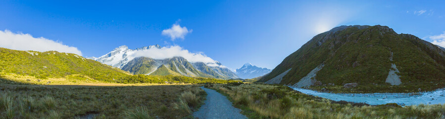
{"type": "Polygon", "coordinates": [[[217,64],[218,61],[205,56],[201,52],[191,53],[188,50],[182,49],[180,46],[168,46],[168,47],[162,47],[161,49],[153,48],[143,51],[136,51],[136,53],[134,53],[132,57],[134,58],[148,57],[151,59],[159,59],[159,60],[173,58],[173,57],[183,57],[190,62],[203,62],[208,66],[225,67],[223,65],[217,64]]]}

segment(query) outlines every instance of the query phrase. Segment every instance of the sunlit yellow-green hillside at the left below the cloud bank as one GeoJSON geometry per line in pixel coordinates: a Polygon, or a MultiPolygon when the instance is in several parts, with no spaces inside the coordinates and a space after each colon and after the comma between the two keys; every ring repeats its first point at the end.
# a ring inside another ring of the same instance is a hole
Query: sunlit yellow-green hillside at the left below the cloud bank
{"type": "Polygon", "coordinates": [[[86,75],[100,81],[113,81],[127,72],[95,60],[56,51],[16,51],[0,48],[0,72],[59,78],[72,74],[86,75]]]}

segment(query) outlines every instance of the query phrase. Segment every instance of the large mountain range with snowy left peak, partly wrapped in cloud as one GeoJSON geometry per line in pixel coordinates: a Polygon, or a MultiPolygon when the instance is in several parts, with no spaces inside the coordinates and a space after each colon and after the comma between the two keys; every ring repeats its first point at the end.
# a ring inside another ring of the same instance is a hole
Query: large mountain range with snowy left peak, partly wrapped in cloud
{"type": "Polygon", "coordinates": [[[132,56],[137,51],[152,48],[160,49],[161,47],[159,45],[154,45],[131,50],[128,49],[127,46],[121,46],[102,57],[96,58],[96,60],[108,65],[119,67],[122,70],[133,74],[183,75],[189,77],[209,77],[218,79],[238,78],[235,73],[219,62],[217,62],[215,66],[208,66],[203,62],[189,62],[182,57],[158,60],[149,57],[135,58],[132,56]]]}

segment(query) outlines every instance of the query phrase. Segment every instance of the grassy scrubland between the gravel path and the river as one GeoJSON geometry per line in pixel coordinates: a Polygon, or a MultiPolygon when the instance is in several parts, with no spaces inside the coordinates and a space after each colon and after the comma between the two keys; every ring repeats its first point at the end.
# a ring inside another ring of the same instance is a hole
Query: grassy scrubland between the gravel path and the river
{"type": "Polygon", "coordinates": [[[368,106],[309,96],[286,86],[211,84],[251,119],[444,119],[445,105],[368,106]]]}

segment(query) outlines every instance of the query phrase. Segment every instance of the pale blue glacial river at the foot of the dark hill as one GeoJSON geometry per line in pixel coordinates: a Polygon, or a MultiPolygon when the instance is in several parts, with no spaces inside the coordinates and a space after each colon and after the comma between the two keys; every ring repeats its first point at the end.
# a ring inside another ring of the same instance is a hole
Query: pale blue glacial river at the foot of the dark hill
{"type": "MultiPolygon", "coordinates": [[[[292,87],[291,87],[292,88],[292,87]]],[[[445,104],[445,89],[436,91],[421,92],[416,95],[409,93],[364,93],[364,94],[339,94],[322,93],[308,89],[293,88],[301,93],[318,96],[334,101],[347,101],[355,103],[366,103],[369,105],[382,105],[396,103],[401,106],[419,104],[445,104]]]]}

